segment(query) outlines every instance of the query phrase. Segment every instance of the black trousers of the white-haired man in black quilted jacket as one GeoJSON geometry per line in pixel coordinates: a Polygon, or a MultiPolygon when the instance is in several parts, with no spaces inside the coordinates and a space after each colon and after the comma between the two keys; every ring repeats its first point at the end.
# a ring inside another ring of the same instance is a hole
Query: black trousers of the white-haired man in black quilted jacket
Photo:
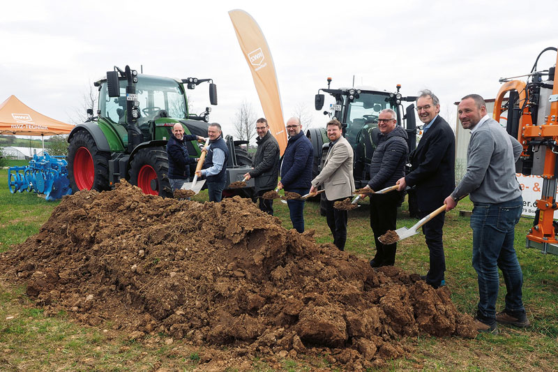
{"type": "Polygon", "coordinates": [[[370,195],[370,227],[374,232],[376,244],[376,255],[373,260],[379,266],[393,266],[395,263],[397,243],[382,244],[378,238],[387,230],[397,228],[397,206],[400,198],[401,194],[398,191],[370,195]]]}

